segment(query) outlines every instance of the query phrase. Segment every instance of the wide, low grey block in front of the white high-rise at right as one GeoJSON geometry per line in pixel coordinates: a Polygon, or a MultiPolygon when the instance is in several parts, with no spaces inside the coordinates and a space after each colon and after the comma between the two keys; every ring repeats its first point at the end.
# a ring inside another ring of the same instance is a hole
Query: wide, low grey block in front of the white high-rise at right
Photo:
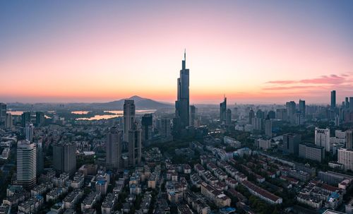
{"type": "Polygon", "coordinates": [[[299,157],[321,162],[325,159],[325,148],[313,143],[299,144],[299,157]]]}

